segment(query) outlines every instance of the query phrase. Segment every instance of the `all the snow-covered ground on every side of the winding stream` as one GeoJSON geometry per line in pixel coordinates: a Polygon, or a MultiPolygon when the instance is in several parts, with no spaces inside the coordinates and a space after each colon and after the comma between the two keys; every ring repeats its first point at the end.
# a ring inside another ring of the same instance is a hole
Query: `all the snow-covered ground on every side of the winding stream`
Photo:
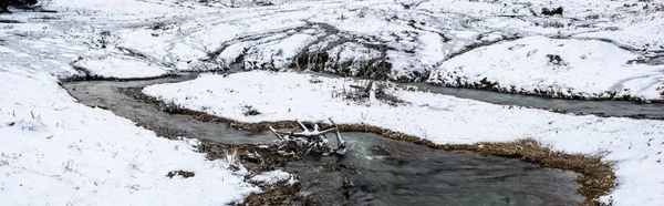
{"type": "MultiPolygon", "coordinates": [[[[615,92],[657,100],[662,92],[662,65],[641,63],[664,51],[661,1],[50,0],[42,6],[58,13],[0,14],[0,20],[23,22],[0,23],[2,205],[211,205],[258,189],[242,172],[228,171],[226,161],[206,161],[195,152],[195,141],[157,137],[108,111],[77,104],[58,85],[59,79],[76,75],[148,78],[289,66],[402,81],[486,78],[516,90],[556,87],[583,96],[615,92]],[[540,14],[560,6],[562,17],[540,14]],[[479,45],[487,48],[469,50],[479,45]],[[547,54],[559,55],[563,64],[549,64],[547,54]],[[626,63],[631,60],[636,61],[626,63]],[[465,70],[457,71],[459,65],[465,70]],[[178,169],[196,175],[166,177],[178,169]]],[[[567,152],[609,151],[605,159],[618,161],[616,204],[664,203],[663,177],[642,175],[663,169],[660,122],[505,109],[409,92],[396,92],[411,102],[398,107],[349,105],[330,96],[335,90],[330,86],[342,84],[338,80],[312,84],[308,79],[255,72],[147,91],[175,101],[184,101],[175,95],[196,96],[181,103],[209,104],[206,112],[247,122],[322,120],[335,112],[345,123],[381,125],[437,143],[533,137],[567,152]],[[177,90],[188,92],[172,93],[177,90]],[[212,92],[199,93],[205,90],[212,92]],[[310,102],[297,101],[303,96],[310,102]],[[263,115],[235,110],[246,104],[263,115]]]]}

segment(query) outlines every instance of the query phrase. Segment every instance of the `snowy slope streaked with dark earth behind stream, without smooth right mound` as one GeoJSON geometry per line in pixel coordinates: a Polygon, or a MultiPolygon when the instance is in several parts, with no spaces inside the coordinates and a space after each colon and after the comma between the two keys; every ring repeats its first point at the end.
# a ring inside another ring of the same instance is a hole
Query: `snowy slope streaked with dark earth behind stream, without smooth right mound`
{"type": "Polygon", "coordinates": [[[118,45],[178,69],[292,66],[424,81],[456,54],[518,37],[602,39],[630,50],[643,51],[647,44],[649,51],[660,51],[660,31],[646,27],[662,18],[660,7],[658,2],[636,0],[290,1],[273,7],[205,10],[197,12],[203,16],[198,18],[164,18],[158,24],[163,27],[112,32],[118,37],[118,45]],[[650,9],[641,9],[645,6],[650,9]],[[557,7],[566,9],[562,17],[541,13],[542,8],[557,7]],[[647,32],[640,32],[640,28],[647,32]],[[631,35],[612,38],[611,32],[632,30],[639,33],[639,42],[627,41],[631,35]],[[365,52],[354,61],[342,56],[349,49],[365,52]]]}

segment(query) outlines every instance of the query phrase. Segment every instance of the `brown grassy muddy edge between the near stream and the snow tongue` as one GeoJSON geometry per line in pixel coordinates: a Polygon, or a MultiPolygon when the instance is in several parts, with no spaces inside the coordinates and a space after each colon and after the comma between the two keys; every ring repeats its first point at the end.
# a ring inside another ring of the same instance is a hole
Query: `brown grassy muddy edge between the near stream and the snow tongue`
{"type": "MultiPolygon", "coordinates": [[[[292,128],[298,127],[294,121],[279,121],[279,122],[260,122],[260,123],[243,123],[225,117],[210,115],[203,112],[191,111],[184,109],[178,105],[173,105],[163,102],[154,96],[148,96],[142,92],[143,87],[126,87],[121,89],[121,92],[145,103],[153,104],[159,110],[174,114],[189,115],[198,121],[204,122],[217,122],[226,123],[237,130],[260,133],[268,131],[268,126],[272,125],[276,128],[292,128]]],[[[313,124],[305,122],[304,124],[313,124]]],[[[331,125],[326,123],[318,123],[323,128],[328,128],[331,125]]],[[[378,126],[363,125],[363,124],[339,124],[341,132],[366,132],[380,134],[387,138],[406,141],[415,144],[425,145],[432,148],[444,150],[444,151],[470,151],[480,155],[494,155],[504,156],[511,158],[519,158],[521,161],[538,164],[542,167],[559,168],[566,171],[573,171],[582,174],[577,178],[577,182],[581,185],[579,193],[585,197],[584,202],[578,205],[605,205],[599,202],[599,197],[608,195],[611,189],[615,187],[615,174],[610,163],[603,163],[601,156],[589,156],[582,154],[566,154],[562,152],[552,151],[548,147],[540,145],[535,140],[520,140],[507,143],[477,143],[477,144],[435,144],[426,138],[421,138],[413,135],[407,135],[401,132],[381,128],[378,126]]],[[[205,143],[205,144],[210,144],[205,143]]],[[[204,144],[204,145],[205,145],[204,144]]],[[[205,147],[205,146],[204,146],[205,147]]],[[[211,157],[216,157],[216,154],[210,154],[209,150],[201,150],[201,152],[208,153],[211,157]]],[[[291,189],[292,190],[292,189],[291,189]]],[[[266,195],[272,195],[272,192],[268,190],[266,195]]],[[[255,194],[260,195],[260,194],[255,194]]],[[[249,200],[258,198],[250,196],[249,200]]]]}

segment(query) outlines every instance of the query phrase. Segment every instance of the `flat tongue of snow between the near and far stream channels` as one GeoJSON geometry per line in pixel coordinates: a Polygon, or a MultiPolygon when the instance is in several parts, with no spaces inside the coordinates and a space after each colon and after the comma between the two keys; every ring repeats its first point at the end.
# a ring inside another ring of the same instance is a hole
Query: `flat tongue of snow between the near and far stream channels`
{"type": "Polygon", "coordinates": [[[351,84],[361,83],[311,74],[255,71],[228,76],[201,74],[193,81],[147,86],[143,92],[190,110],[241,122],[293,119],[324,122],[332,117],[336,123],[381,126],[438,144],[533,138],[567,153],[608,153],[603,161],[615,162],[619,185],[602,198],[604,202],[611,199],[616,205],[664,202],[664,177],[644,175],[664,172],[662,121],[567,115],[401,90],[391,91],[406,102],[398,106],[333,97],[333,93],[349,90],[351,84]],[[321,82],[310,82],[312,79],[321,82]],[[243,115],[246,105],[261,114],[243,115]]]}

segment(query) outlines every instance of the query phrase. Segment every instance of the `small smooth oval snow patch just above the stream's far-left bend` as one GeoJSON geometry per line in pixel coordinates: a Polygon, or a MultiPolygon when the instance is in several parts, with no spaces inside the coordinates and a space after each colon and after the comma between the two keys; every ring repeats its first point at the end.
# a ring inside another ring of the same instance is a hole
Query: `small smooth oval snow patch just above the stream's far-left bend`
{"type": "Polygon", "coordinates": [[[151,78],[169,72],[168,68],[142,61],[133,56],[102,55],[83,59],[73,64],[102,78],[151,78]]]}

